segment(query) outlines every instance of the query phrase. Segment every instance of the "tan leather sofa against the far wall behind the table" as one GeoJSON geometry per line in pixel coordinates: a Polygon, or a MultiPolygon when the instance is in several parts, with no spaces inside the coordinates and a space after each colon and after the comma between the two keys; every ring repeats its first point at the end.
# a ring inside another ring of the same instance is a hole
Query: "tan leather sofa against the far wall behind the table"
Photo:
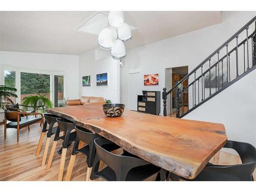
{"type": "Polygon", "coordinates": [[[66,101],[66,105],[102,105],[105,104],[103,97],[81,96],[80,99],[71,99],[66,101]]]}

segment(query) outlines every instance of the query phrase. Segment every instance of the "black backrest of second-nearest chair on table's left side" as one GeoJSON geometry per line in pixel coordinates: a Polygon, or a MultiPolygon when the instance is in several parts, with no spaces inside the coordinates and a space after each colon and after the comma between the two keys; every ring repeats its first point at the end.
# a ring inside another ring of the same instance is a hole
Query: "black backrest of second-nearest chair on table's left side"
{"type": "Polygon", "coordinates": [[[79,141],[82,141],[88,145],[91,145],[94,141],[94,139],[100,138],[101,136],[91,132],[90,130],[84,129],[80,126],[75,126],[76,129],[76,137],[79,139],[79,141]]]}

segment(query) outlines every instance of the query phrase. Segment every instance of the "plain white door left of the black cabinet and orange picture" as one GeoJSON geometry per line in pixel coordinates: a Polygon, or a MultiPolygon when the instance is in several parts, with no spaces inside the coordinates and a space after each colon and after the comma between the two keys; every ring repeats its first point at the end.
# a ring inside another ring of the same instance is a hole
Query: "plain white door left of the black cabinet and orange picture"
{"type": "Polygon", "coordinates": [[[140,73],[129,74],[129,110],[137,111],[137,96],[142,95],[139,87],[141,81],[140,73]]]}

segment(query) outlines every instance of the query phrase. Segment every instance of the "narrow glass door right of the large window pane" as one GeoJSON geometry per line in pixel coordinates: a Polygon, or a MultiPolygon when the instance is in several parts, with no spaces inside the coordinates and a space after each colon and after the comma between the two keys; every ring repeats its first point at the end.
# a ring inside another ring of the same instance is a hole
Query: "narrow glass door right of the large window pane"
{"type": "Polygon", "coordinates": [[[63,75],[54,76],[54,106],[63,106],[64,99],[64,77],[63,75]]]}

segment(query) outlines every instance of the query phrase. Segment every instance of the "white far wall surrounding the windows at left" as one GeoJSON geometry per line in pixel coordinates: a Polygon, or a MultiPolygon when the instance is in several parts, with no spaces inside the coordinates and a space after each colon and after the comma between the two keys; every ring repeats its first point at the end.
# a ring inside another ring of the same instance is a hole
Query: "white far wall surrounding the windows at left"
{"type": "Polygon", "coordinates": [[[78,59],[77,55],[0,51],[0,74],[4,74],[3,66],[61,73],[64,75],[65,98],[76,99],[79,96],[78,59]]]}

